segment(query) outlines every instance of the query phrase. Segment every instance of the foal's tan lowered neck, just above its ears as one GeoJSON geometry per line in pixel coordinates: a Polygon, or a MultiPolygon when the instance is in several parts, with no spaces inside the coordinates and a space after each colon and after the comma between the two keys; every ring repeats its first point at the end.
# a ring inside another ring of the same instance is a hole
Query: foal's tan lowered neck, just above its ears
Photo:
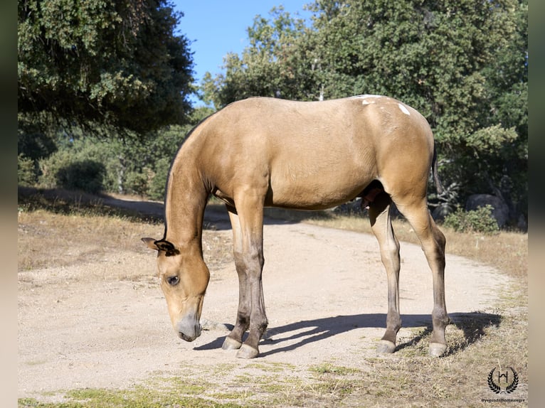
{"type": "Polygon", "coordinates": [[[208,199],[198,172],[174,163],[165,200],[165,239],[175,245],[201,247],[204,208],[208,199]]]}

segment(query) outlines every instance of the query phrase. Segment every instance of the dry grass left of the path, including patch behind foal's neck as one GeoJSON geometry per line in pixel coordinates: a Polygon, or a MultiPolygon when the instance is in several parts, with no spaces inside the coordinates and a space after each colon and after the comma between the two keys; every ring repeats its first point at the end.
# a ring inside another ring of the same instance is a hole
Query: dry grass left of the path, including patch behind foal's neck
{"type": "MultiPolygon", "coordinates": [[[[18,271],[96,262],[112,251],[147,253],[142,237],[162,237],[159,215],[104,205],[102,198],[65,191],[20,191],[18,271]]],[[[231,262],[231,240],[203,231],[211,268],[231,262]]]]}

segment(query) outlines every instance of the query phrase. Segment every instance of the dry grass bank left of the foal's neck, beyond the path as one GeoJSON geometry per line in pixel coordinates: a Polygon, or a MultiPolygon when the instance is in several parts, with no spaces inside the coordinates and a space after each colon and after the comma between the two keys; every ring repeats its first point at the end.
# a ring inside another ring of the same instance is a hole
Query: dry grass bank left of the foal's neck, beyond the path
{"type": "MultiPolygon", "coordinates": [[[[143,251],[140,237],[159,222],[115,213],[95,201],[19,195],[18,270],[95,262],[112,251],[143,251]]],[[[159,232],[161,231],[161,232],[159,232]]]]}

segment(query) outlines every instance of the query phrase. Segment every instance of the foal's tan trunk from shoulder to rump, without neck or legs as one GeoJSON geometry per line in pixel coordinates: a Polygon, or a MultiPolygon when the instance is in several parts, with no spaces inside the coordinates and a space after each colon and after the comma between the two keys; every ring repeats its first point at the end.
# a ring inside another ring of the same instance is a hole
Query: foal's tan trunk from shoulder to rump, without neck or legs
{"type": "Polygon", "coordinates": [[[218,177],[223,184],[260,185],[268,178],[268,205],[327,208],[354,198],[374,179],[383,181],[384,174],[397,177],[391,167],[419,173],[429,168],[427,122],[390,97],[249,98],[211,119],[208,152],[221,156],[218,177]]]}

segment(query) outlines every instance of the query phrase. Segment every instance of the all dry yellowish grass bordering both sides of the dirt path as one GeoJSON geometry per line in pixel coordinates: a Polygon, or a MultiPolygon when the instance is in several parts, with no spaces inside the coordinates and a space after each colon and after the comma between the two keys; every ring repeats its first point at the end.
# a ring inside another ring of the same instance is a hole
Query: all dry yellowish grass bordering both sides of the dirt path
{"type": "MultiPolygon", "coordinates": [[[[332,213],[293,213],[268,210],[269,216],[293,221],[312,222],[327,227],[370,232],[366,218],[348,218],[332,213]]],[[[21,195],[18,213],[19,270],[49,265],[86,262],[90,257],[103,257],[115,249],[144,252],[139,238],[163,232],[162,220],[139,218],[134,213],[114,210],[98,201],[72,198],[46,198],[43,194],[21,195]],[[151,232],[150,232],[151,231],[151,232]]],[[[400,240],[416,242],[411,227],[395,220],[394,228],[400,240]]],[[[501,232],[499,235],[462,234],[444,229],[448,252],[491,264],[507,272],[516,284],[506,288],[502,302],[488,315],[490,321],[480,321],[477,315],[459,316],[448,326],[449,353],[444,358],[429,358],[427,345],[430,328],[420,329],[410,338],[400,338],[393,355],[369,359],[369,370],[354,370],[325,363],[317,367],[283,366],[272,370],[266,361],[263,372],[246,378],[227,381],[226,373],[203,372],[203,378],[221,375],[222,381],[210,383],[206,395],[188,393],[182,399],[179,389],[170,393],[154,389],[116,390],[108,398],[139,402],[147,406],[149,395],[157,406],[175,407],[181,401],[187,406],[224,407],[308,407],[366,406],[383,407],[490,407],[485,398],[522,398],[524,402],[509,402],[509,407],[527,406],[528,384],[528,308],[527,308],[527,234],[501,232]],[[405,342],[405,343],[404,343],[405,342]],[[487,372],[492,367],[514,367],[519,375],[516,393],[494,394],[487,387],[487,372]],[[484,372],[484,374],[483,374],[484,372]],[[145,398],[144,398],[145,397],[145,398]],[[202,399],[206,397],[206,399],[202,399]]],[[[204,245],[210,254],[208,262],[231,262],[230,242],[217,239],[213,231],[205,231],[204,245]]],[[[257,363],[256,363],[257,364],[257,363]]],[[[256,365],[253,370],[260,370],[256,365]]],[[[229,372],[230,370],[228,370],[229,372]]],[[[209,378],[208,378],[209,379],[209,378]]],[[[181,379],[194,382],[188,376],[181,379]]],[[[202,380],[202,378],[201,378],[202,380]]],[[[93,390],[90,390],[93,391],[93,390]]],[[[104,390],[95,390],[90,404],[102,406],[104,390]],[[93,399],[94,398],[94,399],[93,399]]],[[[71,398],[70,396],[68,397],[71,398]]],[[[35,400],[20,400],[20,406],[60,407],[73,404],[39,404],[35,400]]],[[[125,403],[124,402],[124,403],[125,403]]],[[[126,406],[112,402],[109,406],[126,406]]]]}

